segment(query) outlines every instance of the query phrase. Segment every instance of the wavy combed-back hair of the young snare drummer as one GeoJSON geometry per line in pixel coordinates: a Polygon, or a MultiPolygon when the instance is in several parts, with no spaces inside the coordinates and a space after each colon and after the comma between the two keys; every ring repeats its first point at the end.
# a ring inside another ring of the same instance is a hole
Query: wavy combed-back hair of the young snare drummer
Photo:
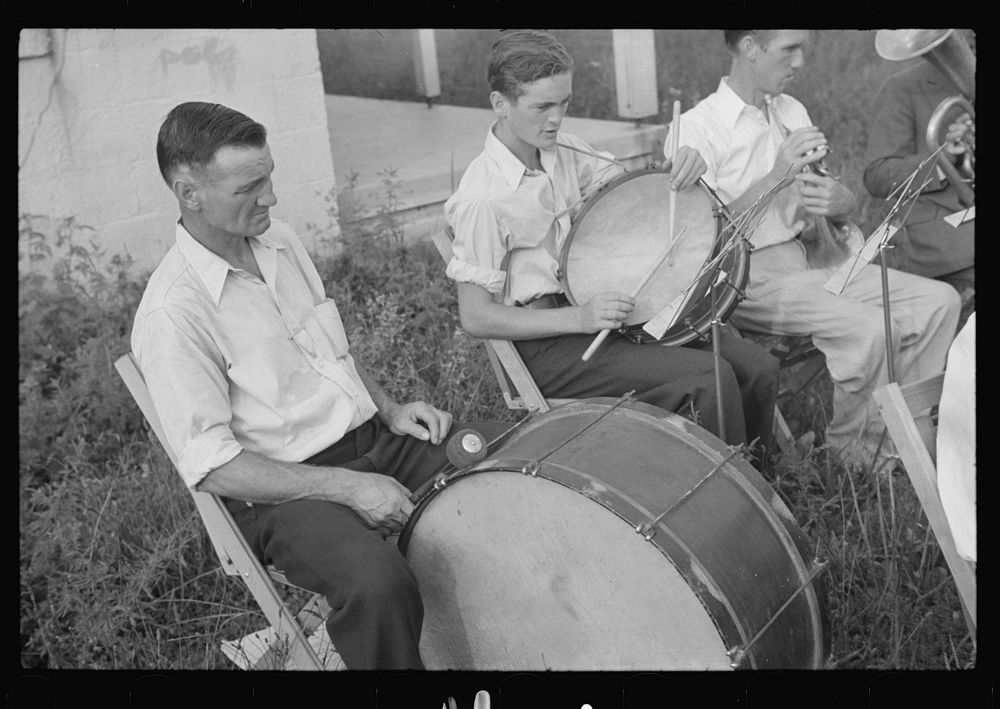
{"type": "Polygon", "coordinates": [[[493,43],[486,81],[490,91],[516,101],[525,84],[572,70],[573,58],[548,32],[511,30],[493,43]]]}

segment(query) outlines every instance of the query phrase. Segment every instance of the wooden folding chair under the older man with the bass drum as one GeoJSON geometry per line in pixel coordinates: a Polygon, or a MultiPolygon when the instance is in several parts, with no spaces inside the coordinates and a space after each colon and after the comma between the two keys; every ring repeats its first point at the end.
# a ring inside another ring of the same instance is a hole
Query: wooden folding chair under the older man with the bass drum
{"type": "MultiPolygon", "coordinates": [[[[177,454],[163,435],[163,426],[135,358],[131,353],[121,356],[115,362],[115,369],[176,468],[177,454]]],[[[324,656],[321,659],[309,642],[309,636],[321,629],[323,620],[330,612],[326,599],[313,594],[302,609],[293,614],[273,582],[297,587],[290,584],[284,574],[274,567],[264,568],[254,556],[222,500],[216,495],[196,490],[191,491],[191,496],[223,570],[228,575],[239,576],[243,580],[271,624],[269,631],[253,633],[244,638],[243,641],[249,639],[245,644],[224,642],[223,649],[228,650],[226,654],[230,659],[247,669],[341,669],[343,663],[331,647],[321,651],[324,656]]]]}

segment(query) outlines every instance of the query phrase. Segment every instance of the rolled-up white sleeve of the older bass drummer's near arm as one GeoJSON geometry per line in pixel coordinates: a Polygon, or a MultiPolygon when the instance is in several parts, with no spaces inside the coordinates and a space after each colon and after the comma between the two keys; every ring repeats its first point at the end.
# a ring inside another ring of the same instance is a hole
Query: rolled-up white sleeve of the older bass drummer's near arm
{"type": "Polygon", "coordinates": [[[224,359],[207,334],[164,308],[147,314],[132,348],[181,477],[194,489],[243,450],[230,428],[224,359]]]}

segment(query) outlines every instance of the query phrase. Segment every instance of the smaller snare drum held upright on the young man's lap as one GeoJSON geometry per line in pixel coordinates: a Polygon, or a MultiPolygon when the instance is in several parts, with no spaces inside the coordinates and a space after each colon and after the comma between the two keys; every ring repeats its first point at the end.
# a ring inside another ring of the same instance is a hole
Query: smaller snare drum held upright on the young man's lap
{"type": "MultiPolygon", "coordinates": [[[[571,303],[582,305],[606,291],[632,292],[667,248],[669,195],[670,173],[647,168],[620,175],[587,198],[559,256],[571,303]]],[[[704,186],[678,192],[674,201],[677,246],[639,292],[625,322],[624,334],[636,342],[683,345],[704,335],[712,321],[712,284],[719,281],[715,307],[725,320],[750,276],[750,251],[742,239],[723,252],[732,229],[722,229],[721,212],[704,186]],[[675,325],[658,338],[642,329],[685,292],[675,325]]]]}

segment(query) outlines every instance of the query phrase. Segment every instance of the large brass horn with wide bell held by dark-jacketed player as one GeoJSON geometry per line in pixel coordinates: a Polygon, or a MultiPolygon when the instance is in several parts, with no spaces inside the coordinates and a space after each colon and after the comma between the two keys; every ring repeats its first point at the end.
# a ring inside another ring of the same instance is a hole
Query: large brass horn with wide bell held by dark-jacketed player
{"type": "Polygon", "coordinates": [[[941,149],[948,127],[962,114],[968,114],[975,128],[976,55],[960,32],[955,30],[879,30],[875,51],[889,61],[905,61],[922,56],[944,74],[958,89],[958,95],[944,99],[927,121],[927,147],[938,152],[938,165],[966,206],[976,201],[975,147],[968,142],[958,166],[941,149]]]}

